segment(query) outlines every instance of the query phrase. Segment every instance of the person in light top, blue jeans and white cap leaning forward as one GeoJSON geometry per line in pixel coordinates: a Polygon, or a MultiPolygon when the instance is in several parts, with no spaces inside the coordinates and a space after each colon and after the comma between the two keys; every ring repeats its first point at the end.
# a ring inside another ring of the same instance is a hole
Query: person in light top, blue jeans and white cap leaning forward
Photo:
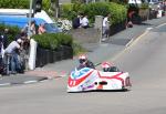
{"type": "Polygon", "coordinates": [[[7,59],[10,58],[10,68],[12,74],[15,74],[17,71],[21,69],[18,59],[19,51],[21,50],[21,43],[22,40],[18,39],[17,41],[12,41],[4,50],[6,63],[7,63],[7,59]]]}

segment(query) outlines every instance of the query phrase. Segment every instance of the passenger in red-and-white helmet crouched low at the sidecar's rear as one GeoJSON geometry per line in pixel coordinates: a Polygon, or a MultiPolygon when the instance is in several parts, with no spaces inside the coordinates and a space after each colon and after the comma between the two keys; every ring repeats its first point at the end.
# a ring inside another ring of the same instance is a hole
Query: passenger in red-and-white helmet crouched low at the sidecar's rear
{"type": "Polygon", "coordinates": [[[113,66],[108,62],[103,62],[102,68],[104,72],[118,72],[120,71],[116,66],[113,66]]]}

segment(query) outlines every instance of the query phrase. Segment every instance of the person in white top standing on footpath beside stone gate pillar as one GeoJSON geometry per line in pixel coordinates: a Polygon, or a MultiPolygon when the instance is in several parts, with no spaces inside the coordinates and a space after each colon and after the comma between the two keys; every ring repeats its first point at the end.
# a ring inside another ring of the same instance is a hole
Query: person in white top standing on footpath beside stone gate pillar
{"type": "Polygon", "coordinates": [[[111,14],[106,14],[103,19],[103,37],[102,41],[105,41],[110,37],[110,18],[111,14]]]}

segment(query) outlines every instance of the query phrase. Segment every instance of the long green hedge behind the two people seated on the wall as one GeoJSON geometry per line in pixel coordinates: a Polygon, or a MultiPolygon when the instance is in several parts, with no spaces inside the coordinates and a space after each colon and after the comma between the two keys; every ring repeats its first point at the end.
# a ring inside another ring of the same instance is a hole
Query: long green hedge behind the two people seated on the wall
{"type": "Polygon", "coordinates": [[[89,15],[90,22],[94,22],[95,15],[112,14],[112,24],[120,23],[126,19],[127,9],[125,6],[114,2],[95,2],[95,3],[71,3],[64,4],[61,8],[61,17],[72,20],[77,13],[85,13],[89,15]]]}

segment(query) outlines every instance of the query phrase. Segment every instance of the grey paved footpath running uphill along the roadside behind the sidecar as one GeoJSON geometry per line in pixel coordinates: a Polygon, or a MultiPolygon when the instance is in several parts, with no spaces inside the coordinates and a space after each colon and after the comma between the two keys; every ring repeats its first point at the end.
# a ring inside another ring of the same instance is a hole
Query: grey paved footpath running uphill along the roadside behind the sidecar
{"type": "MultiPolygon", "coordinates": [[[[84,43],[83,46],[89,50],[86,53],[89,59],[92,60],[94,64],[100,64],[123,51],[127,45],[129,45],[129,43],[132,43],[132,41],[143,34],[148,28],[154,28],[163,23],[166,23],[166,17],[144,21],[139,25],[127,28],[126,30],[111,37],[106,42],[84,43]]],[[[24,74],[1,76],[0,85],[32,83],[46,79],[66,76],[76,65],[79,65],[77,58],[74,56],[70,60],[63,60],[48,64],[43,68],[37,68],[33,71],[27,71],[24,74]]],[[[100,66],[97,66],[97,69],[100,69],[100,66]]]]}

